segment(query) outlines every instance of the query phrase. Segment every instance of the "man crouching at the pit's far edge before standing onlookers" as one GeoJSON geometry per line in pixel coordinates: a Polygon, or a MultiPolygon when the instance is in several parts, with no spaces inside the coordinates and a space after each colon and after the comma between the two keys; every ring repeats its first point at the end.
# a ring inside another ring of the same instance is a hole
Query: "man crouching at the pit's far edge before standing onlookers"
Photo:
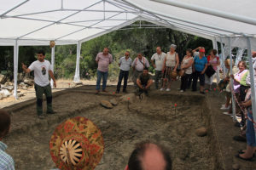
{"type": "Polygon", "coordinates": [[[145,93],[148,96],[148,89],[152,85],[153,81],[151,76],[148,74],[148,68],[143,69],[143,73],[137,77],[137,86],[139,95],[145,93]]]}

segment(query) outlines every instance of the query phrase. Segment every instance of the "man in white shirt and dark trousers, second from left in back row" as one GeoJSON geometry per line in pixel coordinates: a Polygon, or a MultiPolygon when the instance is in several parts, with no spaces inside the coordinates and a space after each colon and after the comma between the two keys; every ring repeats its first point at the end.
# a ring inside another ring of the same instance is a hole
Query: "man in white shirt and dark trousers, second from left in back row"
{"type": "Polygon", "coordinates": [[[130,71],[131,64],[132,64],[132,59],[130,58],[130,52],[126,51],[125,56],[119,60],[120,72],[119,72],[119,82],[118,82],[118,85],[116,88],[117,94],[119,94],[119,92],[120,92],[121,83],[122,83],[123,78],[124,78],[123,92],[127,93],[126,87],[127,87],[127,80],[129,77],[129,71],[130,71]]]}

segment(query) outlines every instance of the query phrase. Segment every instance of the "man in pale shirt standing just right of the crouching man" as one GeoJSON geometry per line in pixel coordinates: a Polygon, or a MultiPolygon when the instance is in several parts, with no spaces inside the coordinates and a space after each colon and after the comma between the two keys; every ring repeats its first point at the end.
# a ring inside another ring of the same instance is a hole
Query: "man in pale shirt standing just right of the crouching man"
{"type": "Polygon", "coordinates": [[[161,78],[162,68],[164,61],[166,59],[166,54],[162,52],[160,47],[156,48],[156,53],[151,57],[151,63],[154,66],[154,84],[155,88],[158,89],[159,80],[161,78]]]}

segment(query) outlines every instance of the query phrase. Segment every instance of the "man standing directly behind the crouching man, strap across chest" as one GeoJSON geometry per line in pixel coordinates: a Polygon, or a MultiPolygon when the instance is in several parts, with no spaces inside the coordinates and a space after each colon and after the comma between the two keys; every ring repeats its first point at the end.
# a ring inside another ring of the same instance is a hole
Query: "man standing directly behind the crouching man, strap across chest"
{"type": "Polygon", "coordinates": [[[143,73],[144,68],[149,67],[148,59],[146,57],[143,57],[143,54],[139,53],[137,54],[137,58],[133,60],[132,63],[132,68],[133,68],[133,82],[134,85],[137,85],[137,77],[143,73]]]}

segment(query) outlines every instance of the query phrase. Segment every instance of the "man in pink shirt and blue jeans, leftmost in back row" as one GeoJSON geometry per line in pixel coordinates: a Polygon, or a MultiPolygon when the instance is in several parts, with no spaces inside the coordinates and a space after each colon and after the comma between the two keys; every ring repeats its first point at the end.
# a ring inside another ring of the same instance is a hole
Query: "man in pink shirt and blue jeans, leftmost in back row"
{"type": "Polygon", "coordinates": [[[97,69],[97,82],[96,82],[96,94],[100,93],[100,86],[102,82],[102,92],[106,91],[107,79],[108,79],[108,65],[113,62],[112,55],[108,53],[109,49],[104,48],[103,52],[97,54],[96,63],[97,69]]]}

